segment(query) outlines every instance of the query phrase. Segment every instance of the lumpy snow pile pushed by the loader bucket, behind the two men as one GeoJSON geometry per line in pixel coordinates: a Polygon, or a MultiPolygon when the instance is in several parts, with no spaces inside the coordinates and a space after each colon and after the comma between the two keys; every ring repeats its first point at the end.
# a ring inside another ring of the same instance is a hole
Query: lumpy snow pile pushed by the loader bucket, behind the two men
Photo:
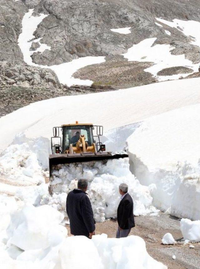
{"type": "Polygon", "coordinates": [[[50,181],[51,190],[55,193],[55,201],[58,200],[58,195],[62,200],[62,194],[64,202],[66,193],[77,186],[77,180],[80,178],[87,178],[89,181],[87,193],[92,203],[96,221],[116,217],[117,207],[120,202],[118,188],[121,183],[128,184],[128,192],[134,201],[135,215],[156,212],[156,209],[151,206],[152,197],[150,195],[150,191],[155,186],[146,187],[139,183],[129,171],[128,158],[108,160],[107,163],[91,161],[82,164],[56,166],[50,181]],[[61,194],[57,195],[57,193],[61,194]]]}

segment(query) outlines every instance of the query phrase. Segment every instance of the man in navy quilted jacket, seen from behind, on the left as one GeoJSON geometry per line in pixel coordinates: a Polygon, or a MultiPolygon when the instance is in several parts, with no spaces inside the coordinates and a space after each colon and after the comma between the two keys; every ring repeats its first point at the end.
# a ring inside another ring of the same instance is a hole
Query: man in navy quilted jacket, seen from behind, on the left
{"type": "Polygon", "coordinates": [[[66,211],[72,235],[85,235],[92,238],[95,230],[93,210],[86,193],[88,181],[79,179],[78,188],[68,193],[66,211]]]}

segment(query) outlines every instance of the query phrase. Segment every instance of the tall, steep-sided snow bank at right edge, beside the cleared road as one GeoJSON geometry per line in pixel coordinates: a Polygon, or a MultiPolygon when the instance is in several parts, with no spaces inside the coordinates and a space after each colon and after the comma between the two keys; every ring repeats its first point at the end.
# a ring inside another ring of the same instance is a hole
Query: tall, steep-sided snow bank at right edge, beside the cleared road
{"type": "Polygon", "coordinates": [[[128,138],[131,169],[156,184],[153,203],[177,217],[200,219],[200,105],[144,121],[128,138]]]}

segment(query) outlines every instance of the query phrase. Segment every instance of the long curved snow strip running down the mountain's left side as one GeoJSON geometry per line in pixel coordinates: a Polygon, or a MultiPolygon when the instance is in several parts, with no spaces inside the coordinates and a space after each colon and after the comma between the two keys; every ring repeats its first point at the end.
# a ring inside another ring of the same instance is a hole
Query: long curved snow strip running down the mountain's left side
{"type": "Polygon", "coordinates": [[[41,38],[34,40],[35,36],[33,35],[33,33],[37,29],[37,25],[40,24],[42,20],[46,18],[48,15],[40,14],[40,16],[34,17],[32,16],[33,10],[34,9],[29,9],[29,11],[24,15],[22,19],[22,33],[19,35],[19,38],[18,38],[18,45],[22,51],[24,61],[28,65],[52,69],[58,76],[60,83],[67,84],[68,86],[71,86],[73,84],[91,85],[93,83],[91,80],[81,80],[81,79],[72,77],[72,75],[74,72],[76,72],[78,69],[84,66],[104,62],[105,57],[102,57],[102,56],[81,57],[71,62],[63,63],[60,65],[53,65],[53,66],[38,65],[32,61],[31,55],[34,52],[38,52],[38,51],[43,52],[44,50],[51,49],[50,46],[40,43],[41,38]],[[39,42],[40,44],[40,47],[36,51],[30,51],[32,42],[39,42]]]}

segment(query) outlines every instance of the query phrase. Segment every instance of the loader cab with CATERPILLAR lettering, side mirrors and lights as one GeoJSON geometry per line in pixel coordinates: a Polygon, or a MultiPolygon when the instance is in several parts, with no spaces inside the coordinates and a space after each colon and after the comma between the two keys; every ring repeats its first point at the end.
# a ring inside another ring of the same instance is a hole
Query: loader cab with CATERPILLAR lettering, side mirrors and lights
{"type": "Polygon", "coordinates": [[[63,124],[53,127],[51,138],[52,154],[64,154],[68,152],[70,144],[76,145],[80,136],[85,136],[87,146],[95,144],[96,152],[105,151],[105,145],[100,142],[99,136],[103,135],[103,126],[93,124],[63,124]]]}

